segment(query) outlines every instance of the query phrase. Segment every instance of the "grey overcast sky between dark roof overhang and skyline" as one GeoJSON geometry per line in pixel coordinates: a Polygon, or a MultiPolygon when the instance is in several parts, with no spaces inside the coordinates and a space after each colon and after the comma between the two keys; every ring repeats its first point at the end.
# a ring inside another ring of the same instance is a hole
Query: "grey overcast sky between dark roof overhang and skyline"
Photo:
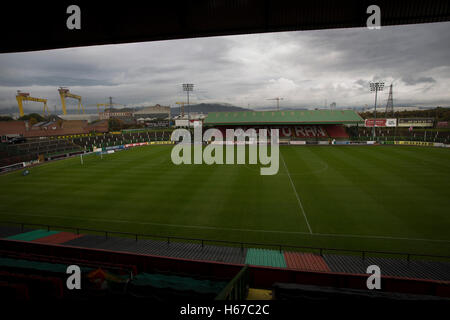
{"type": "MultiPolygon", "coordinates": [[[[448,106],[449,31],[445,22],[0,54],[0,108],[16,107],[22,90],[61,110],[59,86],[87,107],[109,96],[128,106],[173,106],[186,99],[182,83],[195,84],[191,103],[257,109],[278,96],[282,107],[372,106],[372,80],[394,83],[394,104],[448,106]]],[[[383,106],[387,95],[379,96],[383,106]]]]}

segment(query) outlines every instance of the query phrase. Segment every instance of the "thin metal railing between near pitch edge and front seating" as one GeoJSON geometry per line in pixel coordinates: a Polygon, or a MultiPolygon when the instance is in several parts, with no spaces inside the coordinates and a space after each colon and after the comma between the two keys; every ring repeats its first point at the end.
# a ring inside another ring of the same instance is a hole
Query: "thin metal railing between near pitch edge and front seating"
{"type": "Polygon", "coordinates": [[[184,242],[194,242],[201,245],[202,248],[205,245],[209,244],[223,244],[223,245],[232,245],[233,247],[238,247],[241,249],[242,254],[244,254],[244,249],[246,248],[272,248],[279,250],[281,253],[283,249],[293,249],[293,250],[307,250],[318,253],[320,256],[323,256],[325,253],[329,252],[340,252],[340,253],[350,253],[352,255],[361,256],[362,259],[365,259],[369,256],[373,255],[384,255],[384,256],[396,256],[403,257],[407,261],[410,261],[413,257],[424,257],[424,258],[437,258],[444,259],[450,261],[450,256],[443,255],[432,255],[432,254],[421,254],[421,253],[408,253],[408,252],[394,252],[394,251],[377,251],[377,250],[357,250],[357,249],[344,249],[344,248],[325,248],[325,247],[313,247],[313,246],[293,246],[286,244],[274,244],[274,243],[257,243],[257,242],[243,242],[243,241],[232,241],[232,240],[217,240],[217,239],[201,239],[201,238],[188,238],[188,237],[178,237],[178,236],[164,236],[164,235],[156,235],[156,234],[145,234],[145,233],[135,233],[135,232],[123,232],[123,231],[111,231],[111,230],[98,230],[98,229],[90,229],[90,228],[81,228],[81,227],[68,227],[68,226],[58,226],[58,225],[50,225],[50,224],[42,224],[42,223],[27,223],[27,222],[15,222],[15,221],[1,221],[0,224],[9,224],[9,225],[19,225],[21,230],[25,230],[27,226],[35,226],[35,227],[44,227],[47,231],[59,231],[63,230],[72,230],[75,231],[77,235],[80,234],[80,231],[86,231],[94,234],[102,234],[106,239],[113,235],[121,235],[126,236],[128,238],[134,238],[135,241],[139,239],[148,239],[148,238],[156,238],[162,239],[170,245],[174,241],[184,241],[184,242]]]}

